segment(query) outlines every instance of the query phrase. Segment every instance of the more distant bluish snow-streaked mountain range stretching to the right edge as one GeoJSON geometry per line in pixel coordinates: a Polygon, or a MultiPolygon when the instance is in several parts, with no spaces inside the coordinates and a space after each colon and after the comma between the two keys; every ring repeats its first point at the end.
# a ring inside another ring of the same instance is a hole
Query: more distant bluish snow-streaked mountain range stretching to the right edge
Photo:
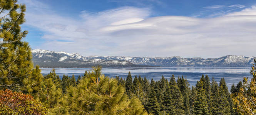
{"type": "Polygon", "coordinates": [[[104,60],[125,60],[133,64],[149,66],[169,66],[169,67],[251,67],[255,57],[227,55],[221,58],[182,58],[172,56],[167,58],[139,58],[124,56],[94,56],[88,59],[104,60]]]}

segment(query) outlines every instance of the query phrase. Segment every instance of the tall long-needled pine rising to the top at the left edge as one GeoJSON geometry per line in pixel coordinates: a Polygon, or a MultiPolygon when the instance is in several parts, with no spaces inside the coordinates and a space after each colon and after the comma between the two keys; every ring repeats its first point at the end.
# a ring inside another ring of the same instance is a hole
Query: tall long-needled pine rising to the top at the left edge
{"type": "Polygon", "coordinates": [[[0,90],[26,91],[23,83],[32,77],[33,69],[30,46],[23,41],[28,31],[20,26],[25,22],[26,6],[3,0],[0,9],[0,90]]]}

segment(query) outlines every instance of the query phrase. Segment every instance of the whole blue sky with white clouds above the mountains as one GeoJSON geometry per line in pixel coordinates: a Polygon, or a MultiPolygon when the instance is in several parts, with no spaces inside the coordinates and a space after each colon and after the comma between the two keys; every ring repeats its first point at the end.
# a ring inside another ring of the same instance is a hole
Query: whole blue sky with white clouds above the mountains
{"type": "Polygon", "coordinates": [[[83,56],[256,56],[256,0],[19,0],[32,49],[83,56]]]}

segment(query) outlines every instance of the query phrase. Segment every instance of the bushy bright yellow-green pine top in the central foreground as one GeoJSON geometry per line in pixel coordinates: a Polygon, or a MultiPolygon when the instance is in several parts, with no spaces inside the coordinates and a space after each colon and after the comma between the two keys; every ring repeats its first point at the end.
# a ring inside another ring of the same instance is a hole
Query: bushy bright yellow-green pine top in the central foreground
{"type": "Polygon", "coordinates": [[[139,99],[129,99],[117,82],[101,74],[100,66],[93,67],[76,87],[67,90],[70,114],[147,115],[139,99]]]}

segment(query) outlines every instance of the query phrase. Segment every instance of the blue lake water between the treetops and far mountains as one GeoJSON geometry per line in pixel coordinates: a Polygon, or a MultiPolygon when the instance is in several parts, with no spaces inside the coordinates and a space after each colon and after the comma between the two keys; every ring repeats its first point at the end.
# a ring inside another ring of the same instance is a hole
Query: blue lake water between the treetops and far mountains
{"type": "MultiPolygon", "coordinates": [[[[169,80],[172,74],[176,77],[181,77],[182,75],[188,79],[190,85],[195,85],[196,82],[201,78],[202,74],[208,75],[210,80],[212,77],[216,81],[224,77],[226,83],[230,89],[231,85],[237,84],[239,81],[243,81],[243,77],[252,78],[250,72],[250,67],[146,67],[146,68],[102,68],[102,74],[109,77],[119,76],[126,79],[128,72],[131,71],[132,77],[135,75],[147,77],[151,80],[153,78],[155,81],[160,80],[161,76],[164,75],[165,78],[169,80]]],[[[48,74],[52,68],[41,68],[42,74],[48,74]]],[[[72,76],[74,74],[75,78],[83,76],[85,71],[91,71],[91,68],[55,68],[56,74],[62,78],[62,76],[68,75],[72,76]]]]}

